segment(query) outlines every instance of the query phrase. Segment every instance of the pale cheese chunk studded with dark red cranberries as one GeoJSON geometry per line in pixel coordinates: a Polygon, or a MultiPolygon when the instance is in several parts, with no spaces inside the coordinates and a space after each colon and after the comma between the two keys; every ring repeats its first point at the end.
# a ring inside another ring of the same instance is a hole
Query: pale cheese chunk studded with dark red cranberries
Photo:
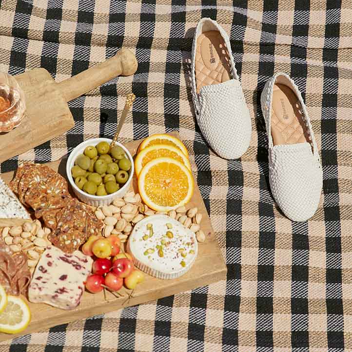
{"type": "Polygon", "coordinates": [[[92,263],[91,257],[79,251],[66,254],[57,247],[47,247],[33,273],[28,290],[29,301],[61,309],[76,308],[92,263]]]}

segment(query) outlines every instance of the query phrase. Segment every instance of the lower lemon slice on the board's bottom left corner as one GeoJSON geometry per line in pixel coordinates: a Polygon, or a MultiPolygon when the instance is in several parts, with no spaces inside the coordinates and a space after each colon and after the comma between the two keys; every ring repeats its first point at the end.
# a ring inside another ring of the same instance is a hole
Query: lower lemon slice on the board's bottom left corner
{"type": "Polygon", "coordinates": [[[18,333],[31,321],[31,312],[27,303],[18,296],[7,296],[7,305],[0,313],[0,332],[18,333]]]}

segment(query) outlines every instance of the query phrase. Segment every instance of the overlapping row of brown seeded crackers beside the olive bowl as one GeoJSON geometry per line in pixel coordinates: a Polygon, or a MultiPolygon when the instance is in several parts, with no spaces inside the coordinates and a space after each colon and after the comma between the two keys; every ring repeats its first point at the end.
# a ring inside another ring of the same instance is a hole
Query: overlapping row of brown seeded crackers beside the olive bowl
{"type": "Polygon", "coordinates": [[[24,164],[11,181],[22,203],[42,217],[52,230],[48,239],[62,251],[72,253],[90,235],[100,235],[103,222],[92,207],[72,198],[67,182],[46,165],[24,164]]]}

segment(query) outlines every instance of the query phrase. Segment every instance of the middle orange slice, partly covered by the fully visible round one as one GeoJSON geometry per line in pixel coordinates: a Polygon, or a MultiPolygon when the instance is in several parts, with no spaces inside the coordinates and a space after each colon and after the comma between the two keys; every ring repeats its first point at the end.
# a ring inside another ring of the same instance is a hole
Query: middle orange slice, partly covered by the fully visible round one
{"type": "Polygon", "coordinates": [[[142,167],[149,161],[157,157],[172,157],[186,165],[187,169],[191,170],[191,163],[188,157],[185,156],[179,148],[171,144],[152,144],[149,147],[141,150],[135,160],[135,171],[138,176],[142,167]]]}

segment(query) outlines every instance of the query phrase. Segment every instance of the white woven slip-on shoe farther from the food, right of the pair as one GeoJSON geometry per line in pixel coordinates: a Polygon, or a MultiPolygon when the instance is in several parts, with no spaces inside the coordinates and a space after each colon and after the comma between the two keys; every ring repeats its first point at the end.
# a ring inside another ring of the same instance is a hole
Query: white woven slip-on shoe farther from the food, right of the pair
{"type": "Polygon", "coordinates": [[[293,80],[277,73],[261,94],[269,139],[269,182],[274,199],[293,221],[318,207],[323,172],[308,112],[293,80]]]}

